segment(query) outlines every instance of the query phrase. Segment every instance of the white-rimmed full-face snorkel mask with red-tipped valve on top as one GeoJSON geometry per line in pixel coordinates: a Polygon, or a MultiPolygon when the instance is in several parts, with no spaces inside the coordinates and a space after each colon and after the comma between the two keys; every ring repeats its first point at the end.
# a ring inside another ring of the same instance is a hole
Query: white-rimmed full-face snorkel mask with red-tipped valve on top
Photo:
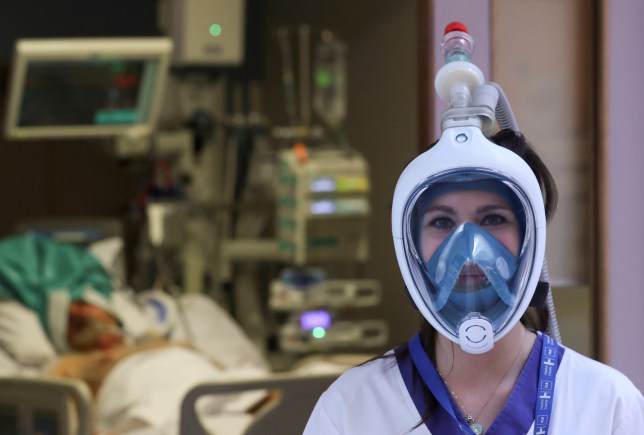
{"type": "MultiPolygon", "coordinates": [[[[471,53],[473,41],[463,30],[448,26],[444,42],[451,33],[470,42],[471,53]]],[[[484,135],[494,127],[495,111],[509,111],[505,96],[497,85],[484,84],[480,70],[459,56],[449,62],[446,53],[449,63],[436,76],[437,92],[450,108],[443,114],[440,140],[398,180],[392,231],[398,264],[418,310],[440,334],[477,354],[507,334],[530,304],[542,273],[546,218],[531,168],[484,135]],[[513,249],[488,231],[487,221],[454,219],[454,228],[442,230],[440,246],[423,252],[432,228],[441,228],[440,222],[427,221],[432,207],[463,191],[492,194],[501,204],[516,230],[513,249]]],[[[509,116],[513,121],[511,111],[509,116]]],[[[499,125],[506,127],[502,120],[499,125]]],[[[509,127],[518,130],[515,124],[509,127]]]]}

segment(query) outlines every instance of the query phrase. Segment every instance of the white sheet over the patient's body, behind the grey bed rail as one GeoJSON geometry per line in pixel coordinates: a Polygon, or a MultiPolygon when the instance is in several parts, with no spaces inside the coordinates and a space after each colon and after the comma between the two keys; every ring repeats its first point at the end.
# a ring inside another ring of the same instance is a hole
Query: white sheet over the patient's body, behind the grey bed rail
{"type": "MultiPolygon", "coordinates": [[[[253,368],[217,369],[203,355],[182,347],[137,353],[110,372],[96,400],[96,425],[101,433],[176,435],[185,394],[202,382],[257,377],[253,368]]],[[[248,424],[243,411],[265,396],[264,391],[206,397],[198,412],[209,427],[231,434],[248,424]],[[226,415],[226,416],[223,416],[226,415]]],[[[241,433],[241,432],[240,432],[241,433]]]]}

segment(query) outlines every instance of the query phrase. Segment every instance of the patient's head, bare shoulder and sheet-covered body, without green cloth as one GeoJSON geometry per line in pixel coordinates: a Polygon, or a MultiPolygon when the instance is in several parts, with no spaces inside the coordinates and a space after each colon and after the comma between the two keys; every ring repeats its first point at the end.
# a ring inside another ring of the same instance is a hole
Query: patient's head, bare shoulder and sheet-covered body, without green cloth
{"type": "MultiPolygon", "coordinates": [[[[161,292],[154,297],[155,306],[160,301],[177,303],[161,292]]],[[[179,405],[191,387],[268,372],[257,350],[248,347],[248,338],[210,299],[185,295],[181,302],[184,314],[190,314],[184,317],[189,323],[177,322],[167,337],[152,328],[136,341],[109,313],[83,302],[70,304],[72,352],[60,356],[47,374],[82,379],[90,386],[100,433],[176,434],[179,405]]],[[[250,421],[247,414],[266,398],[263,391],[212,397],[200,404],[200,414],[213,420],[233,413],[238,416],[233,426],[243,426],[250,421]]],[[[230,426],[227,430],[234,433],[230,426]]]]}

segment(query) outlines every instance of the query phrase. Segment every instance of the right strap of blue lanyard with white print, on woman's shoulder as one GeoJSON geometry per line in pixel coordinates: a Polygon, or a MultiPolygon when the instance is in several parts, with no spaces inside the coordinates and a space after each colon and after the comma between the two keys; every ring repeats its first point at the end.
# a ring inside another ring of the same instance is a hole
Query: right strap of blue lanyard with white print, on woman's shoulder
{"type": "Polygon", "coordinates": [[[552,338],[543,334],[539,386],[535,404],[534,435],[546,435],[550,427],[555,378],[559,370],[560,347],[552,338]]]}

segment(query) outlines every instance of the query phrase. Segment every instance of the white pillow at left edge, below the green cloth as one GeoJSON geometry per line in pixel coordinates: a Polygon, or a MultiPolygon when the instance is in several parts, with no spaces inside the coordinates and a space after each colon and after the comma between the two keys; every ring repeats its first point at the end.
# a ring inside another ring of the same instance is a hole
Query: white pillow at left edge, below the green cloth
{"type": "Polygon", "coordinates": [[[22,366],[43,366],[56,352],[38,316],[19,302],[0,302],[0,346],[22,366]]]}

